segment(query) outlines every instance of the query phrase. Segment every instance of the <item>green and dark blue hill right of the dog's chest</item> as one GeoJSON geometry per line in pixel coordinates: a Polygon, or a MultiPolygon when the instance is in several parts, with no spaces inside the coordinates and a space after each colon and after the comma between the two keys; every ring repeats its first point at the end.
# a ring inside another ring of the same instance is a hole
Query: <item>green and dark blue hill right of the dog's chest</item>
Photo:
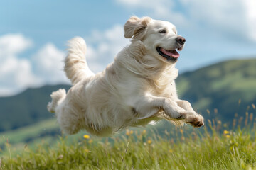
{"type": "Polygon", "coordinates": [[[256,59],[229,60],[186,72],[177,79],[180,98],[193,103],[206,118],[216,116],[224,122],[255,113],[256,59]],[[210,115],[206,113],[210,111],[210,115]]]}

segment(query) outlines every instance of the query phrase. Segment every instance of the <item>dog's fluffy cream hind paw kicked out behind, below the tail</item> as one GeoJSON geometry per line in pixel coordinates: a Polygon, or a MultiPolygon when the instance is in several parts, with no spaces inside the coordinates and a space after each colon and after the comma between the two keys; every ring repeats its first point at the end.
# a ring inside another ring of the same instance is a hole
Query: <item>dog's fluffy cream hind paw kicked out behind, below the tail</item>
{"type": "Polygon", "coordinates": [[[65,99],[66,91],[65,89],[58,89],[58,91],[54,91],[50,97],[52,98],[52,101],[50,101],[47,105],[47,109],[50,113],[55,113],[56,107],[62,103],[62,101],[65,99]]]}

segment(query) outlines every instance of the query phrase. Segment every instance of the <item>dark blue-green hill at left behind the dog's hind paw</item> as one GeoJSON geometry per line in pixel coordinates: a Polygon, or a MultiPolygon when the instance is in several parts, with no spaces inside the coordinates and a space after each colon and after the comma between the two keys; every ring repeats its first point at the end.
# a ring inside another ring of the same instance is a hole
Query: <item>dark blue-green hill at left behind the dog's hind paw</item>
{"type": "Polygon", "coordinates": [[[70,86],[43,86],[27,89],[16,96],[1,97],[0,132],[53,118],[54,115],[48,113],[46,105],[50,101],[50,94],[60,88],[69,89],[70,86]]]}

